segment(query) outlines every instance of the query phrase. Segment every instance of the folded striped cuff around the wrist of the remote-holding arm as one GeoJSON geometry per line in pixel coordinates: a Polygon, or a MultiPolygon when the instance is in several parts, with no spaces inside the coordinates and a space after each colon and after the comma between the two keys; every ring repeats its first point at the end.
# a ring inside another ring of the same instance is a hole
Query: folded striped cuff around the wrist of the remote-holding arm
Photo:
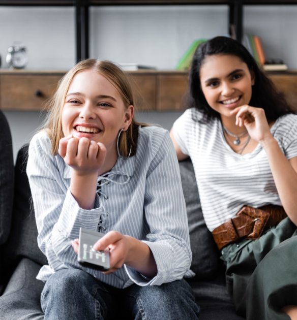
{"type": "Polygon", "coordinates": [[[156,242],[142,242],[146,243],[150,247],[157,264],[158,273],[153,279],[150,279],[125,265],[129,278],[140,286],[161,285],[163,283],[170,282],[171,274],[174,270],[174,259],[170,248],[164,244],[156,242]]]}

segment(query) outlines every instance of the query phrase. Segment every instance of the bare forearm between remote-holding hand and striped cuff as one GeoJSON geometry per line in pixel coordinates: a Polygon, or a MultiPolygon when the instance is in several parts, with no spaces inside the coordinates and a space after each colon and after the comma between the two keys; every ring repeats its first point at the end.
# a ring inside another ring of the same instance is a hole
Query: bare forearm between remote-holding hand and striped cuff
{"type": "Polygon", "coordinates": [[[125,264],[148,278],[157,275],[157,264],[149,246],[133,237],[126,236],[129,241],[129,254],[125,264]]]}

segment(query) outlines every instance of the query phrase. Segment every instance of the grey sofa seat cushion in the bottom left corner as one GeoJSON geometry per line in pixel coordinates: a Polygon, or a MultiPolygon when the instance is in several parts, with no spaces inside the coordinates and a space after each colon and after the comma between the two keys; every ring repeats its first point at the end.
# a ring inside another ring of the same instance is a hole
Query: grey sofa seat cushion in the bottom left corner
{"type": "Polygon", "coordinates": [[[44,283],[36,279],[40,268],[40,265],[29,259],[21,260],[0,297],[0,319],[44,319],[40,306],[44,283]]]}

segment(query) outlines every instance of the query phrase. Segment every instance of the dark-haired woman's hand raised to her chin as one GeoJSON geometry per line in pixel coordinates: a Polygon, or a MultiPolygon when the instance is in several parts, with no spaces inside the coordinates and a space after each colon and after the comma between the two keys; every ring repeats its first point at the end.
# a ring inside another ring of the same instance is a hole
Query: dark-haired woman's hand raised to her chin
{"type": "Polygon", "coordinates": [[[263,109],[245,105],[235,108],[230,113],[236,114],[235,124],[245,126],[251,138],[258,143],[274,139],[263,109]]]}

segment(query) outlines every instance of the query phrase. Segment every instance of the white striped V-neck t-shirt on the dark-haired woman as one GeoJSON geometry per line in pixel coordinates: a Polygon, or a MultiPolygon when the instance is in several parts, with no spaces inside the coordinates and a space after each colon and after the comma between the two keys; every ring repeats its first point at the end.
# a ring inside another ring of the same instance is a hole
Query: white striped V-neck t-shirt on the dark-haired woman
{"type": "MultiPolygon", "coordinates": [[[[173,136],[192,160],[209,230],[233,218],[243,205],[281,205],[268,157],[260,144],[253,152],[240,155],[227,144],[219,119],[202,124],[197,121],[201,117],[197,109],[186,110],[174,122],[173,136]]],[[[278,118],[271,133],[287,159],[297,156],[297,115],[278,118]]]]}

